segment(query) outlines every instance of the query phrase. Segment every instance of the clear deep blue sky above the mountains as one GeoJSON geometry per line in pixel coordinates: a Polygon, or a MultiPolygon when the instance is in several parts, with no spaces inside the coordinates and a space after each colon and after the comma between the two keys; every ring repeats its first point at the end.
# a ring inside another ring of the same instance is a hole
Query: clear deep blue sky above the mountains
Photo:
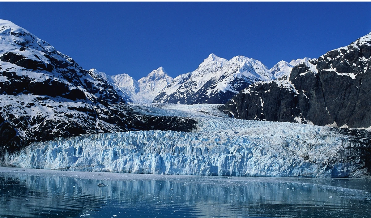
{"type": "Polygon", "coordinates": [[[0,2],[0,19],[29,30],[84,69],[134,79],[178,76],[210,54],[318,58],[371,32],[371,2],[0,2]]]}

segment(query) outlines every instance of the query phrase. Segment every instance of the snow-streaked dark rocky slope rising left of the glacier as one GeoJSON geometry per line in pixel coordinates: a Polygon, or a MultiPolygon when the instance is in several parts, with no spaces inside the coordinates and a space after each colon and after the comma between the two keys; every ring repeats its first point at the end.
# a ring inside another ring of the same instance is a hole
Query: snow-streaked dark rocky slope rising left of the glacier
{"type": "Polygon", "coordinates": [[[0,20],[0,155],[34,141],[160,122],[119,109],[115,105],[128,101],[123,96],[99,72],[82,69],[27,30],[0,20]]]}

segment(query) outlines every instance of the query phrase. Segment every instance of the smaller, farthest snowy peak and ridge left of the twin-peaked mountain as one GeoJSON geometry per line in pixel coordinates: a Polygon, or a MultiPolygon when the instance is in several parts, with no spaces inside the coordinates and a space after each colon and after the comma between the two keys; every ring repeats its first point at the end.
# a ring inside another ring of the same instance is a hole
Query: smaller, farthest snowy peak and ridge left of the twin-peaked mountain
{"type": "Polygon", "coordinates": [[[89,71],[102,75],[129,102],[142,104],[152,103],[153,99],[160,94],[161,90],[173,81],[173,78],[166,73],[163,67],[153,70],[150,74],[138,81],[126,73],[109,76],[106,73],[98,72],[96,69],[89,71]]]}

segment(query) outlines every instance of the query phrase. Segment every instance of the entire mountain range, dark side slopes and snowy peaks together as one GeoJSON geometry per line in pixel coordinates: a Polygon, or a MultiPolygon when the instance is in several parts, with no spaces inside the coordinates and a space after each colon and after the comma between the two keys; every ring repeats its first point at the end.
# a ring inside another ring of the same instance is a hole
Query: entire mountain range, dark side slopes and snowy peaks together
{"type": "Polygon", "coordinates": [[[138,113],[132,103],[225,103],[221,110],[239,119],[369,128],[370,37],[271,69],[244,56],[210,54],[193,72],[173,79],[159,67],[137,81],[82,69],[49,43],[0,20],[0,152],[80,134],[191,131],[197,123],[138,113]]]}

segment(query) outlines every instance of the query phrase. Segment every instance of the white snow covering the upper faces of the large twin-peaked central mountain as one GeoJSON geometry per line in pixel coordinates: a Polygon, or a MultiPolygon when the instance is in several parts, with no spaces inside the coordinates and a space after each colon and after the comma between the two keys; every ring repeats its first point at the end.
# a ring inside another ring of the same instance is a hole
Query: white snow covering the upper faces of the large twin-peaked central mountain
{"type": "Polygon", "coordinates": [[[175,77],[173,82],[161,91],[164,96],[156,102],[166,102],[172,94],[187,98],[187,95],[201,90],[204,90],[207,96],[227,91],[238,93],[240,89],[236,90],[234,87],[237,78],[249,84],[273,79],[269,69],[258,60],[244,56],[227,60],[210,54],[193,72],[175,77]]]}

